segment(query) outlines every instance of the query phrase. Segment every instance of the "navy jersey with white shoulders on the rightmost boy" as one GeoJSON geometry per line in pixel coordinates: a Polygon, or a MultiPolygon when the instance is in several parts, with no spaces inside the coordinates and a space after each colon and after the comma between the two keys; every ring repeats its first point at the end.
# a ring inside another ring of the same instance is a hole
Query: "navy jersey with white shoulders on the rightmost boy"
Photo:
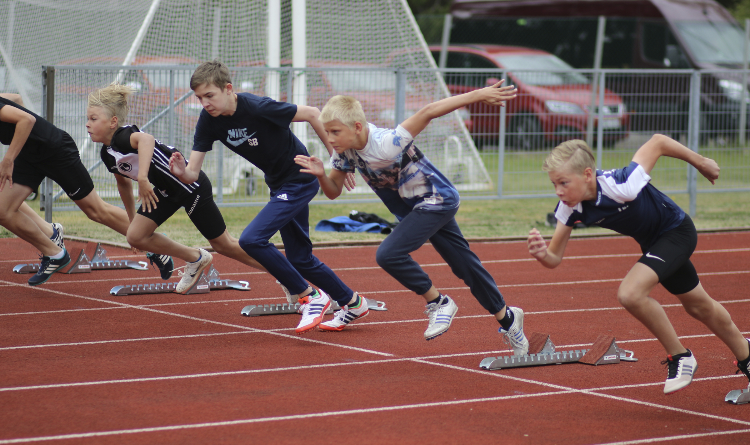
{"type": "Polygon", "coordinates": [[[555,217],[568,226],[581,221],[610,228],[634,237],[643,249],[648,249],[661,234],[685,219],[679,205],[649,181],[651,177],[634,162],[622,169],[597,170],[596,199],[573,208],[559,202],[555,217]]]}

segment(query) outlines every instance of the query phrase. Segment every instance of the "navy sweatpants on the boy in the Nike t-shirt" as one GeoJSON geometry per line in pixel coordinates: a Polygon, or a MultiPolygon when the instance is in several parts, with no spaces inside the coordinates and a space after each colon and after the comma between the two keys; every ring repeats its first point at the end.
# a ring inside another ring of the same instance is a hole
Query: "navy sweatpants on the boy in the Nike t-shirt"
{"type": "Polygon", "coordinates": [[[323,289],[339,305],[349,303],[354,292],[313,255],[308,221],[308,202],[318,193],[318,181],[308,184],[284,184],[272,190],[266,207],[245,227],[239,245],[248,255],[269,270],[292,294],[308,288],[306,279],[323,289]],[[284,256],[269,243],[279,231],[284,241],[284,256]]]}

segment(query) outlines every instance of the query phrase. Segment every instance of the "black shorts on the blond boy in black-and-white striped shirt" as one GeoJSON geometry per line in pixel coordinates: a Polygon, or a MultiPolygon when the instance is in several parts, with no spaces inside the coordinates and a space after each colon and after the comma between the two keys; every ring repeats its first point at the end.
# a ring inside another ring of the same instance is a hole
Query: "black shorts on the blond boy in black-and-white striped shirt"
{"type": "Polygon", "coordinates": [[[214,190],[211,187],[211,181],[208,180],[205,173],[200,172],[198,182],[200,184],[198,189],[178,202],[172,201],[165,196],[160,196],[161,193],[158,190],[154,190],[156,195],[159,196],[156,208],[151,208],[151,213],[148,213],[143,208],[143,205],[141,205],[138,209],[138,214],[156,222],[156,225],[162,225],[176,211],[184,207],[185,213],[190,217],[190,221],[193,222],[205,239],[213,240],[220,237],[226,230],[226,224],[219,208],[214,202],[214,190]]]}

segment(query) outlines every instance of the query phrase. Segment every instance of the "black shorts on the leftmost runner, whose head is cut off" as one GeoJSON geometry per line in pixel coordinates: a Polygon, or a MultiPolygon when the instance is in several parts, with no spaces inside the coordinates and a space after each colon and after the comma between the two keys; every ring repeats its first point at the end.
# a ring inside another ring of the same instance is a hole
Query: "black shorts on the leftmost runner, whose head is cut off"
{"type": "Polygon", "coordinates": [[[52,178],[74,201],[84,199],[94,190],[94,182],[81,162],[76,142],[68,133],[62,134],[62,147],[49,148],[49,157],[35,162],[22,154],[13,161],[13,184],[37,190],[44,177],[52,178]]]}

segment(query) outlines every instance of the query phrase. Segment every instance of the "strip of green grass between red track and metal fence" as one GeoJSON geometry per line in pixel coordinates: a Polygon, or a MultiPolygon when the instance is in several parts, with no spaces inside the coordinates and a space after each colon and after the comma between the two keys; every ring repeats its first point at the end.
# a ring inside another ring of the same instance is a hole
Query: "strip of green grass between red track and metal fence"
{"type": "MultiPolygon", "coordinates": [[[[549,190],[551,192],[551,188],[549,190]]],[[[670,196],[683,209],[688,208],[686,194],[670,196]]],[[[38,210],[39,202],[29,203],[31,208],[38,210]]],[[[556,199],[497,199],[464,201],[456,219],[461,231],[466,237],[500,237],[524,236],[532,227],[539,228],[544,234],[551,234],[552,229],[544,227],[543,221],[547,212],[553,211],[556,199]]],[[[245,225],[248,225],[260,211],[260,207],[222,208],[221,213],[226,220],[229,233],[239,237],[245,225]]],[[[373,204],[326,204],[310,206],[311,239],[313,241],[339,240],[382,240],[382,234],[362,234],[347,232],[315,231],[318,221],[347,215],[352,209],[374,213],[386,220],[393,217],[380,203],[373,204]]],[[[86,218],[80,211],[61,211],[53,215],[55,222],[65,225],[65,233],[80,237],[91,237],[101,240],[113,240],[124,243],[121,234],[104,225],[96,224],[86,218]]],[[[744,227],[750,225],[750,193],[700,193],[697,196],[697,215],[694,218],[698,228],[744,227]]],[[[208,243],[200,236],[184,211],[178,211],[164,225],[159,228],[173,240],[188,246],[206,246],[208,243]]],[[[577,229],[575,233],[607,232],[604,228],[577,229]]],[[[10,237],[4,228],[0,237],[10,237]]],[[[272,241],[281,242],[276,234],[272,241]]]]}

